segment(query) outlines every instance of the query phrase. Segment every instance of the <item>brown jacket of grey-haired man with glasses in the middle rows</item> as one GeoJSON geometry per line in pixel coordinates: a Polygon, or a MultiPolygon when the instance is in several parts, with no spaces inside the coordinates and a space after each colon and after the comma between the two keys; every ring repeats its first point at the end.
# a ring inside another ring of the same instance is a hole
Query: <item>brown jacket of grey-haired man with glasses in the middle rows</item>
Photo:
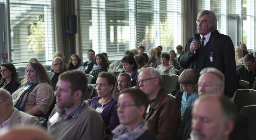
{"type": "Polygon", "coordinates": [[[146,116],[148,130],[159,140],[172,139],[180,124],[180,116],[175,101],[161,88],[146,116]]]}

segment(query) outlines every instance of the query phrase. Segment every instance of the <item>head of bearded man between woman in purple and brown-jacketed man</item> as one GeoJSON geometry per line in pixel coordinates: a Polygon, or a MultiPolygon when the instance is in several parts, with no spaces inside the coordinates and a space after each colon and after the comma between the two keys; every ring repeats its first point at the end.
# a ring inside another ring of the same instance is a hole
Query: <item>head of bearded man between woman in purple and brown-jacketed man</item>
{"type": "Polygon", "coordinates": [[[117,88],[119,91],[123,90],[124,88],[131,87],[131,76],[128,73],[122,73],[117,78],[117,88]]]}

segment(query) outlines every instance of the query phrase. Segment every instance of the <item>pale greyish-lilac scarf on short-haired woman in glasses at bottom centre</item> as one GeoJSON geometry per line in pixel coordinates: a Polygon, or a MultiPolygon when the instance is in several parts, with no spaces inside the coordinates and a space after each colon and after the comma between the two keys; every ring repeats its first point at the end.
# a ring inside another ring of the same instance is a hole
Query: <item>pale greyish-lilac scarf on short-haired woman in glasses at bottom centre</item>
{"type": "Polygon", "coordinates": [[[131,132],[127,132],[126,127],[123,124],[119,124],[114,130],[111,131],[114,134],[112,140],[135,140],[147,129],[148,126],[146,122],[140,123],[140,125],[131,132]]]}

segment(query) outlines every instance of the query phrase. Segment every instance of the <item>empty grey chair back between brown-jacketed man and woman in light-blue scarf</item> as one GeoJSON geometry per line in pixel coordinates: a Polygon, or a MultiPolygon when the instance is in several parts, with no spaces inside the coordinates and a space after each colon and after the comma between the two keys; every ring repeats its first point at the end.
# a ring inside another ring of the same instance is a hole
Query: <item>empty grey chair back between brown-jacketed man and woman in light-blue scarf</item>
{"type": "Polygon", "coordinates": [[[163,74],[163,88],[167,94],[170,94],[172,89],[179,89],[178,78],[176,74],[163,74]]]}

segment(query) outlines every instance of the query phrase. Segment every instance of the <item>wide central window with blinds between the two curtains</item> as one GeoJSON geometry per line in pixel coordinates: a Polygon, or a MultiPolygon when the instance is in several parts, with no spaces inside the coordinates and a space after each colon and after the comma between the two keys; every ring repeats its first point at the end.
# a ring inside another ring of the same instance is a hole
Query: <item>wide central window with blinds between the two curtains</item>
{"type": "Polygon", "coordinates": [[[139,45],[181,43],[181,2],[176,0],[81,0],[83,61],[87,51],[123,56],[139,45]]]}

